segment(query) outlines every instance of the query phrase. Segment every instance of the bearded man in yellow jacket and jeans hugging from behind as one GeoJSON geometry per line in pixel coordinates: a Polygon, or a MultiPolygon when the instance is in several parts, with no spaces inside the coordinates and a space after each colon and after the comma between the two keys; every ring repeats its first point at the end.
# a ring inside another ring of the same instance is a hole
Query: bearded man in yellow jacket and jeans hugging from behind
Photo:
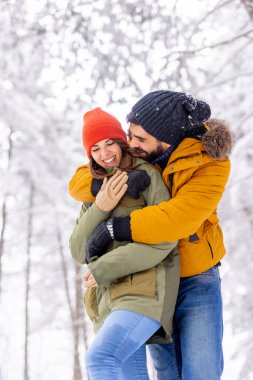
{"type": "MultiPolygon", "coordinates": [[[[230,172],[232,138],[210,114],[205,102],[172,91],[149,93],[133,106],[130,147],[160,168],[172,199],[103,222],[89,242],[91,255],[99,256],[108,238],[145,244],[179,240],[174,342],[150,346],[159,380],[218,380],[223,370],[218,266],[225,247],[217,206],[230,172]]],[[[70,193],[88,201],[90,186],[87,167],[81,167],[70,193]]]]}

